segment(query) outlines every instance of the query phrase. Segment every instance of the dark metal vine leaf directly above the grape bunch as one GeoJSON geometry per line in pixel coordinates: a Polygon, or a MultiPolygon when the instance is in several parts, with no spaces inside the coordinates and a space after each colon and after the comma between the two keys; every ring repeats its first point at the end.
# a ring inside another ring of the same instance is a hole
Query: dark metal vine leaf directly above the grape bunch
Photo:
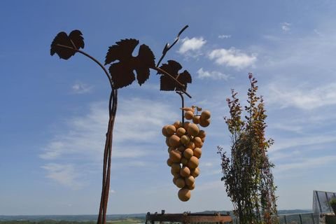
{"type": "Polygon", "coordinates": [[[172,78],[169,78],[168,76],[161,76],[160,77],[160,90],[163,90],[163,91],[180,91],[180,90],[186,91],[187,90],[187,83],[191,83],[192,79],[191,79],[190,73],[186,70],[184,70],[182,73],[179,73],[179,70],[182,69],[182,66],[181,64],[179,64],[179,62],[176,62],[174,60],[169,60],[168,64],[162,64],[162,66],[160,66],[160,69],[167,71],[169,74],[174,76],[176,80],[179,80],[179,82],[184,85],[184,87],[181,87],[172,78]]]}

